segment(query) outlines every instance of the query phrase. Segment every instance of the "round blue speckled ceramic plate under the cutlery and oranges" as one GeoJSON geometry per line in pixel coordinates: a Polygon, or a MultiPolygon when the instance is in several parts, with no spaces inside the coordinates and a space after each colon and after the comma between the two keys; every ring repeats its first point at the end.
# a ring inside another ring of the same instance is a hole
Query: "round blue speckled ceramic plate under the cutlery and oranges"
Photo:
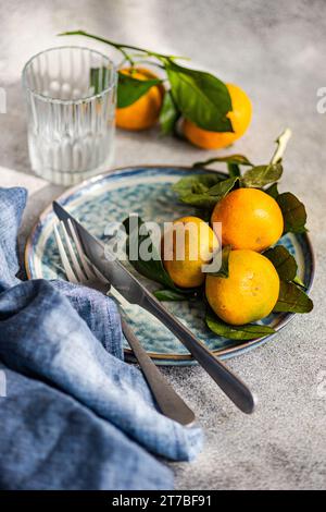
{"type": "MultiPolygon", "coordinates": [[[[193,215],[191,207],[179,206],[171,184],[178,181],[185,172],[193,171],[179,167],[131,167],[117,169],[108,174],[93,178],[64,193],[59,202],[65,206],[89,231],[104,240],[104,229],[109,221],[122,221],[130,212],[139,214],[143,220],[164,222],[184,215],[193,215]]],[[[209,171],[204,171],[209,172],[209,171]]],[[[29,278],[65,279],[57,244],[53,224],[57,218],[49,207],[34,228],[26,246],[26,269],[29,278]]],[[[299,277],[308,288],[313,280],[314,263],[311,243],[306,234],[287,234],[281,239],[296,257],[299,277]]],[[[130,270],[150,290],[159,288],[152,281],[130,270]]],[[[204,324],[204,307],[198,303],[165,303],[166,307],[187,325],[191,331],[222,358],[231,357],[269,341],[275,334],[254,341],[239,342],[217,337],[204,324]]],[[[137,305],[124,303],[123,308],[129,322],[148,353],[158,364],[192,364],[188,351],[154,317],[137,305]]],[[[271,315],[263,320],[265,325],[281,329],[293,315],[271,315]]],[[[126,355],[130,351],[126,346],[126,355]]]]}

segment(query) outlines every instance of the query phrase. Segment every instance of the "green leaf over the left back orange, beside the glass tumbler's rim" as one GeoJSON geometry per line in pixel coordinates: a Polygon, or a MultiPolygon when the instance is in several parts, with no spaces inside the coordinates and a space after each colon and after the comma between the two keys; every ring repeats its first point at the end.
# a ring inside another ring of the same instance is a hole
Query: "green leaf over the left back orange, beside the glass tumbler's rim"
{"type": "Polygon", "coordinates": [[[117,108],[123,109],[135,103],[141,98],[153,85],[161,84],[159,78],[138,80],[130,75],[118,72],[117,82],[117,108]]]}

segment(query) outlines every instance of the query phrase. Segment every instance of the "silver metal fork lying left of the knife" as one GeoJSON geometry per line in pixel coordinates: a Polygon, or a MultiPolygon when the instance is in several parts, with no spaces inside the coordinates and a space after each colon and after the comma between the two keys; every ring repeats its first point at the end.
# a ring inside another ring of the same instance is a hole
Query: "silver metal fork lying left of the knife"
{"type": "MultiPolygon", "coordinates": [[[[64,242],[60,236],[57,225],[54,225],[54,235],[68,281],[76,284],[84,284],[88,288],[98,290],[105,295],[110,292],[110,282],[97,270],[89,261],[87,261],[77,233],[71,222],[67,221],[68,230],[74,241],[75,249],[73,247],[71,236],[65,228],[64,222],[60,222],[64,234],[64,242]],[[67,247],[67,253],[65,246],[67,247]]],[[[115,297],[116,298],[116,297],[115,297]]],[[[188,407],[184,400],[176,393],[172,386],[167,382],[165,377],[161,374],[158,367],[154,365],[152,359],[149,357],[145,349],[141,346],[136,334],[131,328],[127,325],[123,316],[121,317],[122,330],[128,341],[139,366],[147,379],[147,382],[156,400],[156,403],[162,413],[174,419],[181,425],[193,424],[196,417],[193,412],[188,407]]]]}

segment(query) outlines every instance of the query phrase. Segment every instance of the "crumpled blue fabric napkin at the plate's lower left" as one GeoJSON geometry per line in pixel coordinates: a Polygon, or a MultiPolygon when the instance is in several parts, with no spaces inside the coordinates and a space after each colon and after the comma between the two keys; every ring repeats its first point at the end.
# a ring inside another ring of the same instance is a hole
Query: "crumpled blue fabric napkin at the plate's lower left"
{"type": "Polygon", "coordinates": [[[192,459],[201,429],[160,414],[142,374],[123,362],[111,298],[15,277],[26,196],[0,188],[0,488],[171,489],[153,454],[192,459]]]}

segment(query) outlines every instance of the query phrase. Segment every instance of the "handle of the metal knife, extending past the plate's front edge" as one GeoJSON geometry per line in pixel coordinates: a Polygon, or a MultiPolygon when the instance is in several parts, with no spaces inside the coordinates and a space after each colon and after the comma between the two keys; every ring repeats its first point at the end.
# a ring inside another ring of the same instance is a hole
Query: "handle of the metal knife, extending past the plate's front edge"
{"type": "Polygon", "coordinates": [[[162,324],[180,340],[195,359],[197,359],[212,379],[215,380],[237,407],[246,414],[251,414],[254,411],[255,398],[247,385],[227,368],[224,363],[215,357],[215,355],[200,342],[187,327],[163,307],[153,295],[147,293],[141,306],[162,321],[162,324]]]}

